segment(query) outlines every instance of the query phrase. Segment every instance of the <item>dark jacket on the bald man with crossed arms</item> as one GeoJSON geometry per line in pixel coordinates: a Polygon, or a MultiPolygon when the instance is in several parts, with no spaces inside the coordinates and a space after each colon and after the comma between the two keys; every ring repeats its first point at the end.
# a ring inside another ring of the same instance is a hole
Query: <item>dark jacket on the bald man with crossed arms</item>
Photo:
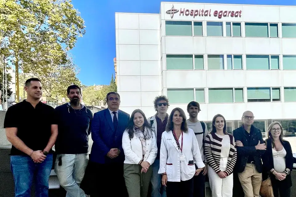
{"type": "Polygon", "coordinates": [[[236,128],[233,130],[233,137],[235,141],[239,140],[243,143],[243,147],[236,146],[237,151],[237,159],[234,170],[236,172],[243,172],[245,170],[245,167],[247,165],[248,156],[254,157],[254,164],[256,166],[256,169],[259,173],[262,173],[262,161],[261,161],[261,155],[265,153],[265,150],[256,150],[255,146],[258,144],[258,141],[260,143],[264,143],[264,140],[262,138],[262,134],[260,129],[254,127],[254,125],[251,126],[252,130],[252,140],[251,140],[251,146],[246,146],[247,140],[249,137],[245,133],[245,128],[242,125],[239,128],[236,128]]]}

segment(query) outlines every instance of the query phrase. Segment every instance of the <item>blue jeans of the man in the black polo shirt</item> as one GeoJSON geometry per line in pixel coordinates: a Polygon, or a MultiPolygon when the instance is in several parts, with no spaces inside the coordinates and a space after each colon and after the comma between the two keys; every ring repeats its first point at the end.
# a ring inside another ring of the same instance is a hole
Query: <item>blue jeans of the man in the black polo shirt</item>
{"type": "Polygon", "coordinates": [[[31,197],[33,179],[36,197],[48,197],[52,154],[48,154],[42,163],[34,163],[29,156],[13,155],[10,157],[10,167],[14,178],[15,197],[31,197]]]}

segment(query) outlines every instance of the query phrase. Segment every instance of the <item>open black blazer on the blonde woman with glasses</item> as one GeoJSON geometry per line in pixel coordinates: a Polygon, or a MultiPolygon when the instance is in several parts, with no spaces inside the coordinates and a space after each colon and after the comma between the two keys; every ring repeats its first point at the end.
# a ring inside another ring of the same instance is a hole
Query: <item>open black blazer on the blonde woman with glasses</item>
{"type": "MultiPolygon", "coordinates": [[[[266,152],[264,153],[264,155],[262,155],[263,172],[264,172],[263,173],[263,180],[265,180],[267,178],[268,172],[274,168],[271,139],[267,139],[266,142],[267,142],[266,152]]],[[[294,157],[293,157],[291,145],[288,141],[283,141],[282,145],[287,152],[286,157],[285,157],[286,158],[286,168],[289,168],[292,171],[294,157]]],[[[280,184],[280,185],[282,185],[282,187],[291,187],[292,186],[291,174],[287,175],[286,178],[282,181],[276,180],[274,175],[270,174],[270,179],[272,181],[272,184],[280,184]]]]}

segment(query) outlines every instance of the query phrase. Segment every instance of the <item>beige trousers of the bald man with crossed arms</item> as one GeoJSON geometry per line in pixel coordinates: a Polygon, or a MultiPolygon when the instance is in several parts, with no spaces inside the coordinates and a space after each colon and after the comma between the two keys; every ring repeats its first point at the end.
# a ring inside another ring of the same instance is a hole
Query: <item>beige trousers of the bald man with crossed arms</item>
{"type": "Polygon", "coordinates": [[[255,164],[247,163],[245,170],[238,173],[238,178],[240,179],[245,197],[260,197],[259,191],[262,182],[262,173],[256,170],[255,164]]]}

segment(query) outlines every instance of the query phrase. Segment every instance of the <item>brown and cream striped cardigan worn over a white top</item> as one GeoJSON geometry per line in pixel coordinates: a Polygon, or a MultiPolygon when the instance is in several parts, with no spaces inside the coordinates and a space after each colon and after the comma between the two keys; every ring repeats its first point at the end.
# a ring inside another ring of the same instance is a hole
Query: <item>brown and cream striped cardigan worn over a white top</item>
{"type": "MultiPolygon", "coordinates": [[[[228,156],[227,167],[224,172],[227,175],[231,174],[236,162],[236,146],[234,137],[230,134],[230,151],[228,156]]],[[[220,158],[221,158],[221,147],[222,147],[222,138],[218,137],[216,133],[210,133],[206,136],[204,141],[204,153],[207,158],[208,164],[215,170],[216,173],[219,173],[221,170],[220,158]]]]}

